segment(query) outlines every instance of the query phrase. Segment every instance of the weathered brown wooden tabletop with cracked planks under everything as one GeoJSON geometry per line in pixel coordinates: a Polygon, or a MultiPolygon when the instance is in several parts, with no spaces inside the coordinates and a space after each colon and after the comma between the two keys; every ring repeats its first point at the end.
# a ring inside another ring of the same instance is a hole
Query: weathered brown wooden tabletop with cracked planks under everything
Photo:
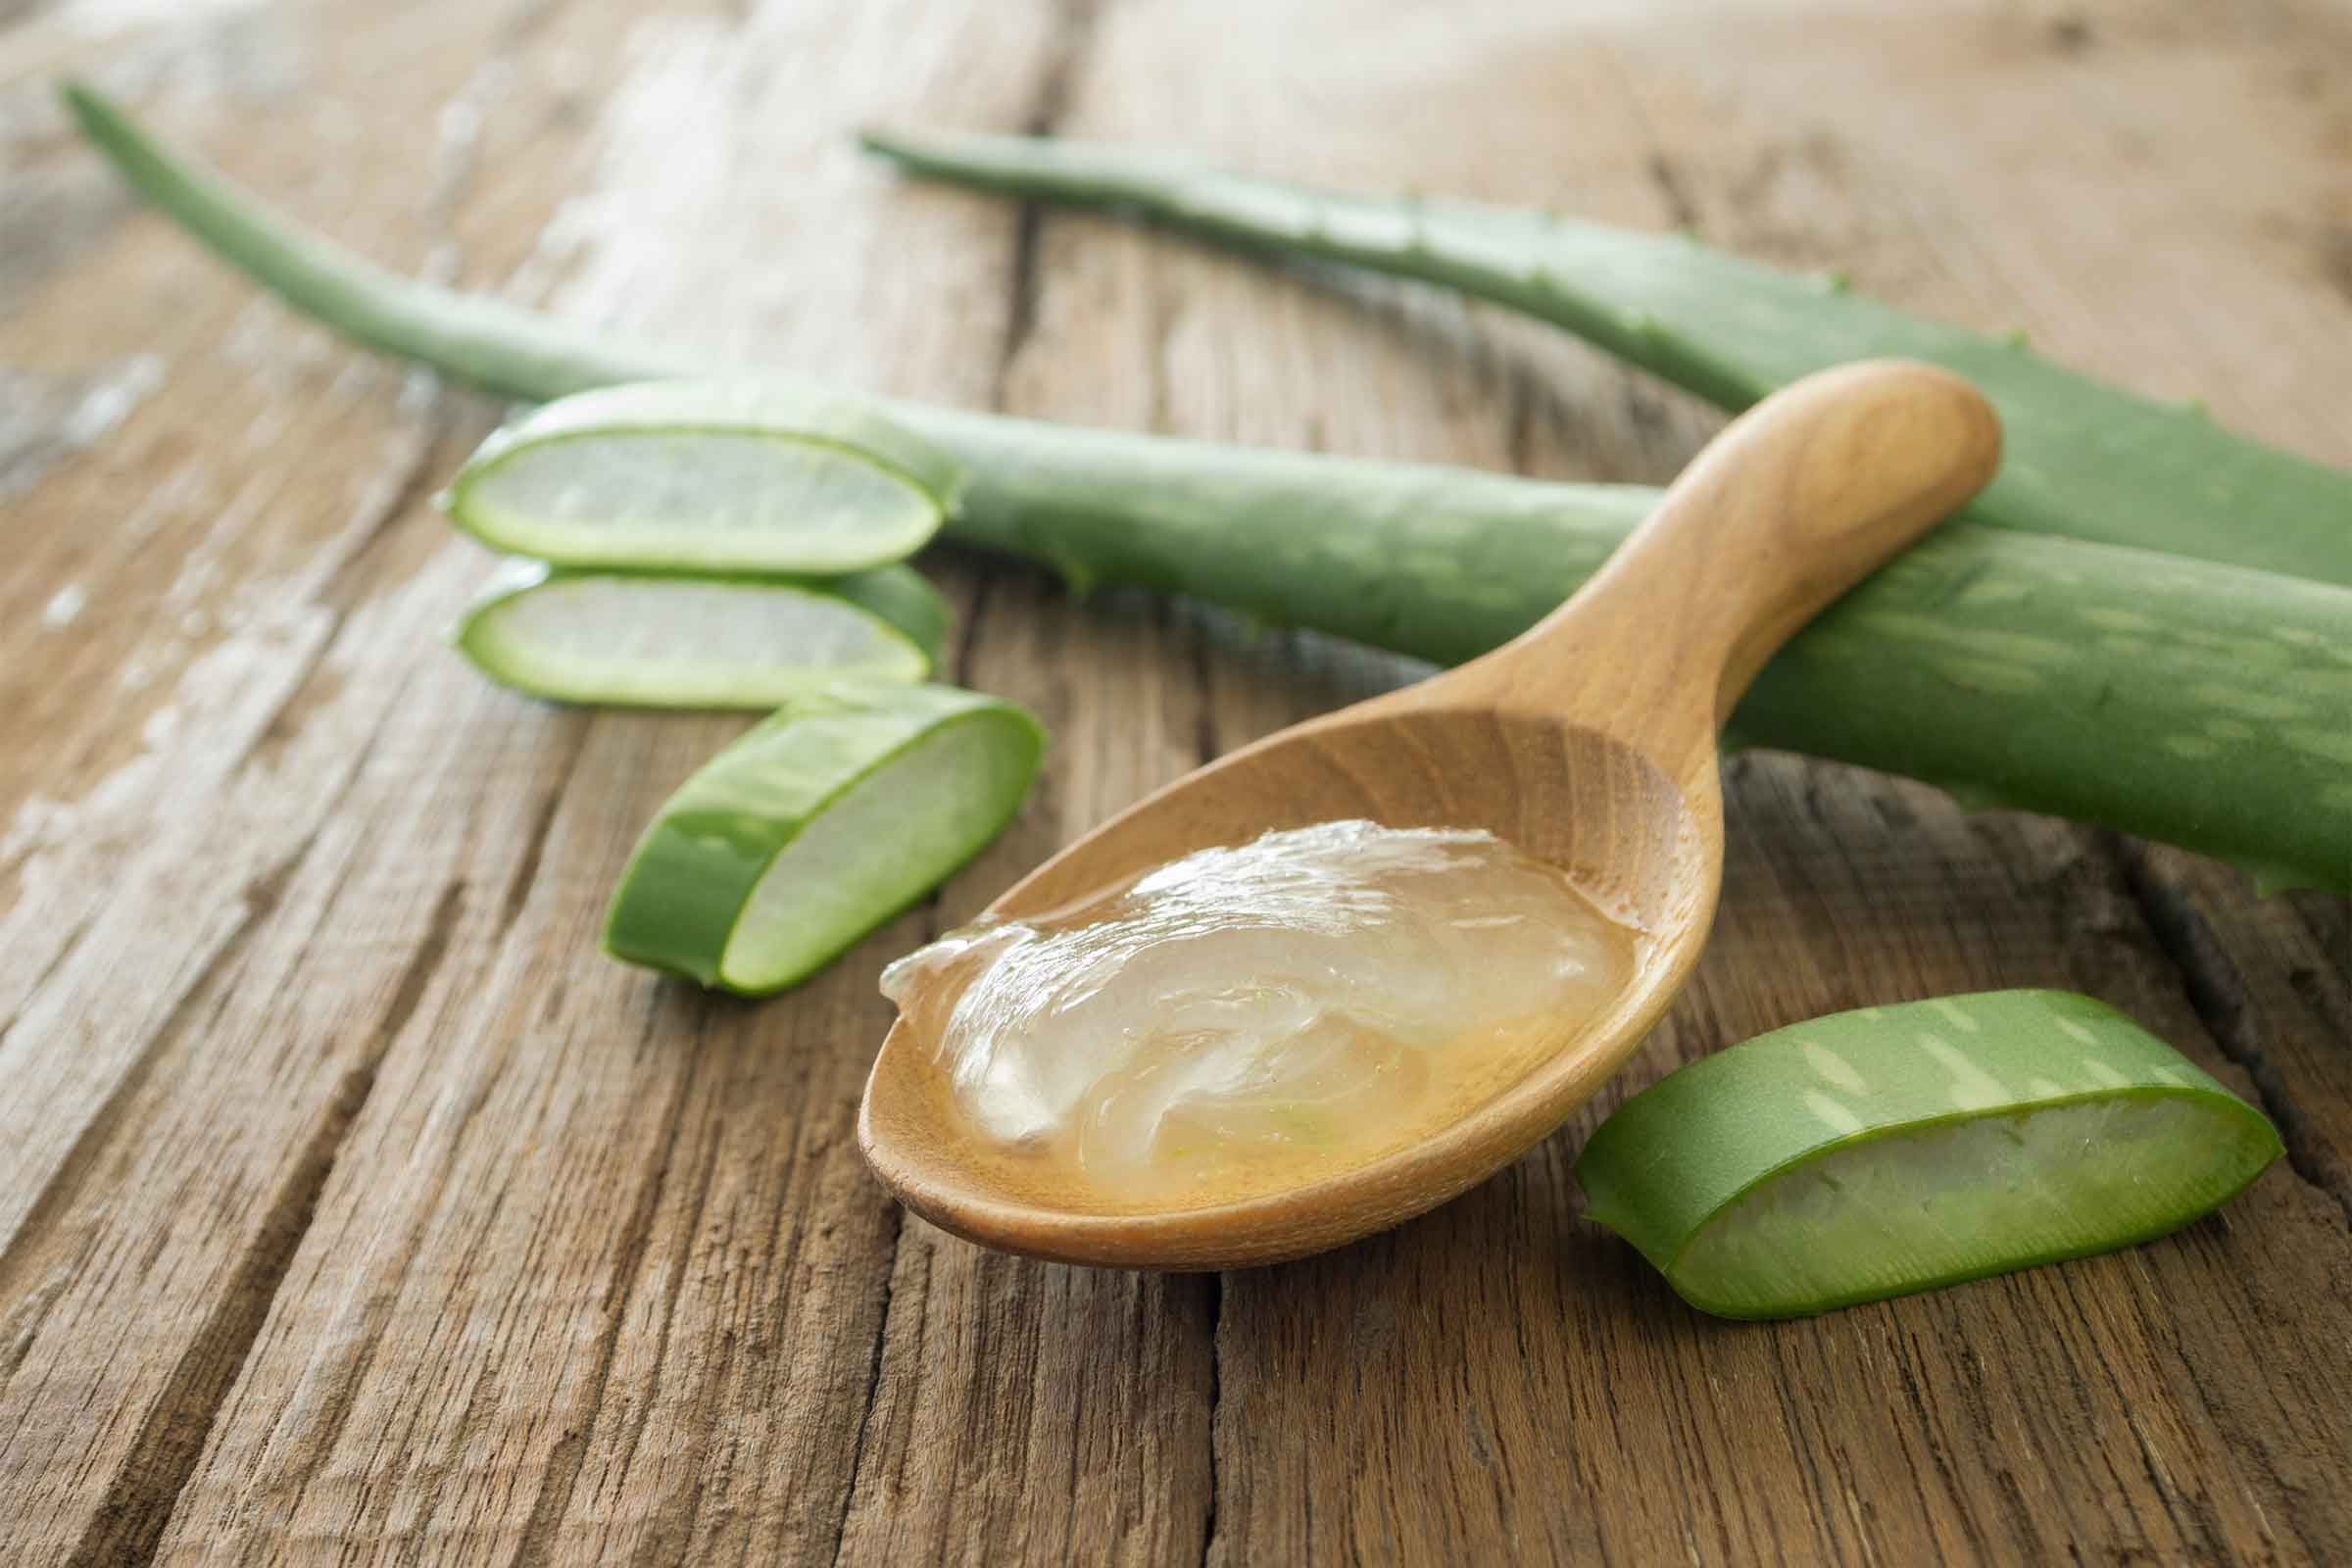
{"type": "Polygon", "coordinates": [[[847,132],[1686,223],[2352,463],[2352,9],[0,0],[5,1561],[2352,1561],[2343,900],[1748,755],[1698,980],[1508,1173],[1221,1279],[981,1253],[854,1147],[880,966],[1411,670],[943,555],[955,675],[1056,736],[1021,823],[786,999],[614,966],[630,842],[743,719],[475,677],[489,562],[428,498],[499,409],[134,207],[59,71],[381,261],[722,355],[1663,482],[1715,416],[1545,329],[847,132]],[[1783,1326],[1578,1218],[1571,1154],[1675,1063],[2009,985],[2124,1006],[2288,1159],[2122,1255],[1783,1326]]]}

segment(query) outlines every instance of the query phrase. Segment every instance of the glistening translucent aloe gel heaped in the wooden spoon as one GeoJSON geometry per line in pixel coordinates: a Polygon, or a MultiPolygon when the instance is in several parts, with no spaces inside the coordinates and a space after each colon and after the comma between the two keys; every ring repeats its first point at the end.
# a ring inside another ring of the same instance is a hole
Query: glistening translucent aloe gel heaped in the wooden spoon
{"type": "Polygon", "coordinates": [[[1350,820],[967,926],[882,992],[1035,1178],[1176,1201],[1416,1140],[1581,1032],[1632,959],[1630,929],[1489,832],[1350,820]]]}

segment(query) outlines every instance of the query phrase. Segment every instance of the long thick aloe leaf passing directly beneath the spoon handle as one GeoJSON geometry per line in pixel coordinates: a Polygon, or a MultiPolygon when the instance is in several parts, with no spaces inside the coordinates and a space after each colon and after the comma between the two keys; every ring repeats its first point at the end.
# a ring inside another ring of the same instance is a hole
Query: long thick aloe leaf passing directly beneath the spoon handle
{"type": "MultiPolygon", "coordinates": [[[[367,268],[73,103],[200,242],[372,348],[524,400],[694,369],[367,268]]],[[[1522,632],[1656,501],[873,407],[969,475],[943,538],[1439,663],[1522,632]]],[[[2352,590],[1952,522],[1790,642],[1733,733],[2352,891],[2352,590]]]]}

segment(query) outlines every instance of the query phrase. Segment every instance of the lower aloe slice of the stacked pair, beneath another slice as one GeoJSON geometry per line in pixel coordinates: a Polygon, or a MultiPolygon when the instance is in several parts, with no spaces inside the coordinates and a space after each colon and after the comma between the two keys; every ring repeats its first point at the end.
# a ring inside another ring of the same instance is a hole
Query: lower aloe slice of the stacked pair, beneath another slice
{"type": "Polygon", "coordinates": [[[781,581],[508,562],[456,646],[560,703],[776,708],[844,679],[917,682],[946,630],[946,602],[906,567],[781,581]]]}

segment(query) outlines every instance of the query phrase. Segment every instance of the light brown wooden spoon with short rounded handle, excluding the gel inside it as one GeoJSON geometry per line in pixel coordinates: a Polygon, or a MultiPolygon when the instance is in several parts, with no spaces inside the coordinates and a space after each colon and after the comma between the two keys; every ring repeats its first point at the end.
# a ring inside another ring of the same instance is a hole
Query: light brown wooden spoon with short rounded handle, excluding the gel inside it
{"type": "Polygon", "coordinates": [[[1303,1187],[1101,1213],[993,1159],[931,1044],[898,1023],[866,1084],[866,1159],[960,1237],[1176,1269],[1315,1253],[1491,1175],[1602,1086],[1698,961],[1724,860],[1715,736],[1740,691],[1806,618],[1973,496],[1999,451],[1992,409],[1940,369],[1884,360],[1809,376],[1733,421],[1526,635],[1218,757],[990,905],[1042,914],[1272,827],[1486,827],[1644,938],[1635,980],[1599,1018],[1444,1131],[1303,1187]]]}

